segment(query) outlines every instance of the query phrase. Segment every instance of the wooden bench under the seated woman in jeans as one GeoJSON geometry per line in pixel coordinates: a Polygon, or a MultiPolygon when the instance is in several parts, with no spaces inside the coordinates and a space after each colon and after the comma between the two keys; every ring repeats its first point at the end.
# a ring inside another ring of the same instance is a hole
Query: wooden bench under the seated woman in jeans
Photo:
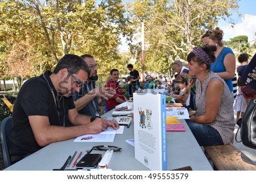
{"type": "Polygon", "coordinates": [[[255,163],[232,143],[221,146],[204,146],[205,152],[218,171],[256,171],[255,163]]]}

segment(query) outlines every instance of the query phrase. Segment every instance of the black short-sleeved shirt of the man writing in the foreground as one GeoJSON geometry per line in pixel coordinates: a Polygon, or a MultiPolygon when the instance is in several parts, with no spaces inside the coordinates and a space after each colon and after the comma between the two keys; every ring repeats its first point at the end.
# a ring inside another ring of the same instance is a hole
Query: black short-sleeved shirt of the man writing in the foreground
{"type": "Polygon", "coordinates": [[[47,71],[39,77],[27,80],[19,91],[13,109],[13,128],[9,135],[9,153],[15,163],[24,156],[42,147],[38,145],[32,132],[28,116],[43,115],[55,126],[67,126],[68,110],[74,109],[72,97],[61,97],[56,101],[56,90],[47,71]],[[54,96],[53,96],[54,95],[54,96]]]}

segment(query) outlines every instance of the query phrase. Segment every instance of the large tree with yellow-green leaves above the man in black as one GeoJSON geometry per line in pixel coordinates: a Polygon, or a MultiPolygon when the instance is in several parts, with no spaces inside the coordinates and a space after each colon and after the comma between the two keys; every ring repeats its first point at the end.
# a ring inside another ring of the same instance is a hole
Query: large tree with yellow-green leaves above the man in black
{"type": "MultiPolygon", "coordinates": [[[[14,52],[19,52],[15,50],[18,47],[26,51],[25,45],[23,48],[18,46],[26,42],[28,55],[22,60],[33,61],[36,72],[32,73],[35,75],[38,75],[40,65],[43,71],[51,70],[67,53],[89,53],[103,66],[112,61],[116,64],[121,59],[118,51],[120,35],[126,36],[127,40],[133,35],[121,0],[97,3],[95,0],[6,0],[0,2],[0,14],[0,42],[7,42],[7,58],[13,61],[11,63],[21,61],[14,59],[14,52]]],[[[20,73],[16,72],[16,75],[20,73]]]]}

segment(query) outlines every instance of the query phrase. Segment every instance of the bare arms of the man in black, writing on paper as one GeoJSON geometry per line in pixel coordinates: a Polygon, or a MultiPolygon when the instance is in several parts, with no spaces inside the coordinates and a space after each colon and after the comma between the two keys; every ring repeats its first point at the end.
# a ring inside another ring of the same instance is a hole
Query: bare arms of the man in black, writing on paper
{"type": "Polygon", "coordinates": [[[116,121],[107,121],[102,118],[96,118],[90,122],[90,117],[78,114],[76,109],[69,110],[69,120],[73,125],[71,127],[53,126],[49,123],[49,118],[42,115],[32,115],[28,119],[39,146],[47,146],[53,142],[59,142],[79,137],[85,134],[98,134],[106,130],[106,127],[112,126],[118,129],[119,125],[116,121]]]}

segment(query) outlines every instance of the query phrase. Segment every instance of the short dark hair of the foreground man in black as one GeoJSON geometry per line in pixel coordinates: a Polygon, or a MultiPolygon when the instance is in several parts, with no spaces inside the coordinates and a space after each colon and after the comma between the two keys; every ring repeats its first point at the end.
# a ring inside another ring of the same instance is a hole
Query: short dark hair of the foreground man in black
{"type": "Polygon", "coordinates": [[[88,75],[90,75],[90,69],[88,67],[88,64],[85,63],[82,57],[77,55],[68,54],[63,56],[57,63],[53,73],[59,73],[59,71],[64,68],[67,68],[68,71],[73,74],[77,73],[80,69],[82,69],[87,72],[88,75]]]}

